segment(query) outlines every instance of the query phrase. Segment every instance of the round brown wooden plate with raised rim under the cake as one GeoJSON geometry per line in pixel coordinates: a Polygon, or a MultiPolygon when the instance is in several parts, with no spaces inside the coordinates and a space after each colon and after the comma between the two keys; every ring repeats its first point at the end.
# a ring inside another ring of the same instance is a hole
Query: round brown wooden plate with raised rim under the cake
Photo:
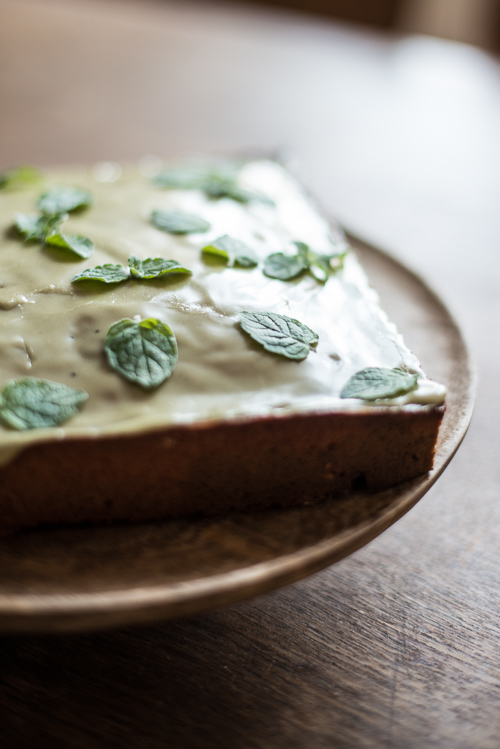
{"type": "Polygon", "coordinates": [[[0,630],[128,625],[231,604],[342,559],[425,494],[470,421],[470,357],[452,316],[420,278],[380,250],[351,241],[424,371],[448,388],[432,473],[390,491],[353,493],[314,507],[1,539],[0,630]]]}

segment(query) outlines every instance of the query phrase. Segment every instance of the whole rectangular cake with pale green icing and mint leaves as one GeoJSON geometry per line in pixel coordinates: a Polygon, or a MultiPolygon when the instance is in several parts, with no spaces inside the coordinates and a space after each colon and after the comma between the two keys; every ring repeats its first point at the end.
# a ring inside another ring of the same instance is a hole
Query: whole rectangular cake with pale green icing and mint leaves
{"type": "Polygon", "coordinates": [[[0,530],[425,474],[444,387],[269,160],[0,176],[0,530]]]}

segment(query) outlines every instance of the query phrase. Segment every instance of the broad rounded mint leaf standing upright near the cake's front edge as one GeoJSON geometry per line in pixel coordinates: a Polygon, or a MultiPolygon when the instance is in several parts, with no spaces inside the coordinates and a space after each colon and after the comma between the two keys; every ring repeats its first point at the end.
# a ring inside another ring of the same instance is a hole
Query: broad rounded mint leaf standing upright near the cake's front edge
{"type": "Polygon", "coordinates": [[[168,325],[152,317],[115,322],[106,336],[110,366],[129,382],[150,389],[168,379],[177,363],[177,341],[168,325]]]}

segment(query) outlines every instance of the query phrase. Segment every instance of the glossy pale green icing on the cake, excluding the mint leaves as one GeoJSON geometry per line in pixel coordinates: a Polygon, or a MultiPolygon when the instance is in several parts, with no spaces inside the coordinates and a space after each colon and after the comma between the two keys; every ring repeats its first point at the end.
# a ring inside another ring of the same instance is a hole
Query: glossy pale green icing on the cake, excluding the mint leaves
{"type": "Polygon", "coordinates": [[[42,184],[0,190],[0,387],[24,377],[81,388],[89,398],[64,424],[16,431],[0,425],[0,458],[33,441],[113,435],[206,420],[358,409],[340,398],[349,378],[366,367],[417,373],[411,392],[380,405],[441,403],[444,388],[426,379],[416,357],[380,309],[355,254],[348,252],[326,283],[310,273],[283,281],[263,272],[272,253],[294,255],[294,242],[319,255],[347,249],[342,233],[320,215],[301,187],[271,161],[244,163],[242,190],[266,199],[211,197],[200,189],[161,189],[140,168],[117,165],[47,172],[42,184]],[[16,212],[36,215],[37,199],[53,186],[84,188],[90,206],[70,213],[65,234],[95,244],[91,257],[64,254],[16,232],[16,212]],[[188,212],[203,231],[174,234],[151,220],[154,211],[188,212]],[[229,235],[258,264],[228,267],[202,248],[229,235]],[[333,250],[332,250],[333,248],[333,250]],[[128,258],[175,260],[192,274],[144,282],[72,283],[75,275],[128,258]],[[241,330],[243,311],[299,320],[318,335],[306,359],[269,353],[241,330]],[[178,362],[163,384],[144,390],[114,371],[104,354],[107,331],[123,318],[168,325],[178,362]]]}

